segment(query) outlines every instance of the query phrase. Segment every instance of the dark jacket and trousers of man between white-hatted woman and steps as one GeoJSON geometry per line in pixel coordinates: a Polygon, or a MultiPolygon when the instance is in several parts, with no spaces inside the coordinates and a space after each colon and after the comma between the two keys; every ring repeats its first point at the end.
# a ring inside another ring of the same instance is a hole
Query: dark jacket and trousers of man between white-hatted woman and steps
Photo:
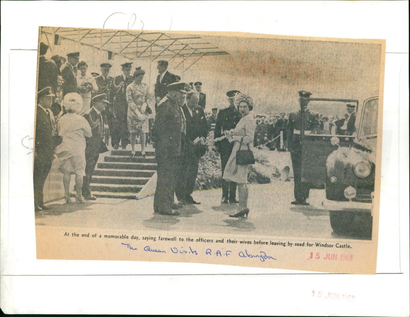
{"type": "Polygon", "coordinates": [[[83,178],[83,196],[87,197],[91,195],[90,182],[94,173],[95,165],[98,162],[100,153],[107,152],[107,146],[103,141],[103,118],[101,114],[98,114],[94,108],[91,108],[84,115],[88,123],[91,126],[92,136],[86,138],[86,176],[83,178]]]}

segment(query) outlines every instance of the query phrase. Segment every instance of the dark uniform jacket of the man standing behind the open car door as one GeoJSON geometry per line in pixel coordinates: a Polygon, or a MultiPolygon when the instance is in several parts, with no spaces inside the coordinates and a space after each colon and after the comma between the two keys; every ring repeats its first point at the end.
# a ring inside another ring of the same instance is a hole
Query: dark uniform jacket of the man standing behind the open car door
{"type": "MultiPolygon", "coordinates": [[[[309,110],[305,111],[304,115],[304,131],[312,131],[313,129],[313,116],[309,110]]],[[[300,134],[302,130],[302,112],[292,112],[288,118],[288,128],[286,134],[288,136],[288,149],[289,151],[297,151],[301,149],[300,134]]]]}

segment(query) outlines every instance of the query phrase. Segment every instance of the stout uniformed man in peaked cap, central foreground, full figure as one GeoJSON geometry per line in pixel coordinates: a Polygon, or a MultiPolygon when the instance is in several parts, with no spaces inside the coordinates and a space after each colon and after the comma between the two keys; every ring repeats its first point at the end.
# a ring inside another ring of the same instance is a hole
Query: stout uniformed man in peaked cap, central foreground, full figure
{"type": "Polygon", "coordinates": [[[185,101],[185,82],[170,83],[168,94],[156,109],[152,126],[152,141],[155,144],[157,161],[157,185],[154,196],[154,213],[175,215],[174,191],[176,170],[184,152],[186,121],[180,109],[185,101]]]}

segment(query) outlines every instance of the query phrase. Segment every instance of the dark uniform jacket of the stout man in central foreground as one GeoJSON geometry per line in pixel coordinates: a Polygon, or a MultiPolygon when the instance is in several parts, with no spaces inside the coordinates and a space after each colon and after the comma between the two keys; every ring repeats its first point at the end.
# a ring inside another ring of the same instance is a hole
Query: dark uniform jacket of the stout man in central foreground
{"type": "Polygon", "coordinates": [[[156,157],[178,157],[182,154],[181,114],[178,105],[168,95],[158,104],[151,132],[156,157]]]}

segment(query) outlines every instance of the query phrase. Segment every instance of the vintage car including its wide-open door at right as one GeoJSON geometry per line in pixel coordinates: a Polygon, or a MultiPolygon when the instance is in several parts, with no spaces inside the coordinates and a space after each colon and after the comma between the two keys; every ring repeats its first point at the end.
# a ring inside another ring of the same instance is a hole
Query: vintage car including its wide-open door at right
{"type": "Polygon", "coordinates": [[[362,231],[371,235],[379,99],[365,100],[361,110],[356,99],[304,99],[309,100],[305,115],[309,116],[310,129],[302,127],[300,138],[302,182],[309,188],[325,188],[320,208],[330,210],[336,234],[362,231]],[[353,131],[347,131],[344,124],[352,117],[346,114],[349,107],[354,116],[358,110],[361,113],[353,131]],[[318,122],[322,123],[315,126],[312,121],[319,114],[318,122]]]}

